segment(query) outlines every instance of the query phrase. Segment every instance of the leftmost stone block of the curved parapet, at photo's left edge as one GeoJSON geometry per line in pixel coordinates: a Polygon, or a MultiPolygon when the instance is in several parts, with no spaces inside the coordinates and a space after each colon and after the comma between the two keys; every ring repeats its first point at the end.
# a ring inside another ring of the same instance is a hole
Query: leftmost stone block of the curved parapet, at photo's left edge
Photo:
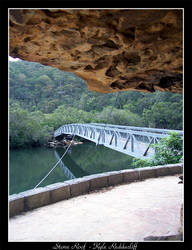
{"type": "Polygon", "coordinates": [[[24,211],[24,197],[21,195],[10,195],[9,217],[20,214],[23,211],[24,211]]]}

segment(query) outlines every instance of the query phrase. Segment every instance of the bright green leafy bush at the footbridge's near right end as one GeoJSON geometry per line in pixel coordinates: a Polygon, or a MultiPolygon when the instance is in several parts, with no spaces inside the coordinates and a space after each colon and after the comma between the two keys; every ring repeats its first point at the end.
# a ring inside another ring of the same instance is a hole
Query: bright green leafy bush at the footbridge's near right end
{"type": "Polygon", "coordinates": [[[170,134],[160,140],[158,144],[153,144],[155,155],[152,159],[142,160],[135,158],[134,167],[147,167],[165,164],[174,164],[182,161],[183,157],[183,140],[177,132],[170,134]]]}

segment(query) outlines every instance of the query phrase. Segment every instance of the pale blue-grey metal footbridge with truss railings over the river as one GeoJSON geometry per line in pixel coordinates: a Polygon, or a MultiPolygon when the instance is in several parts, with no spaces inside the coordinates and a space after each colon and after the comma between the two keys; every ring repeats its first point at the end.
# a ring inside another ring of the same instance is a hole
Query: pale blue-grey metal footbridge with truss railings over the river
{"type": "Polygon", "coordinates": [[[54,132],[54,137],[76,135],[121,153],[137,157],[151,158],[155,153],[152,144],[159,143],[160,139],[170,132],[177,132],[183,136],[181,130],[156,129],[145,127],[121,126],[101,123],[66,124],[54,132]]]}

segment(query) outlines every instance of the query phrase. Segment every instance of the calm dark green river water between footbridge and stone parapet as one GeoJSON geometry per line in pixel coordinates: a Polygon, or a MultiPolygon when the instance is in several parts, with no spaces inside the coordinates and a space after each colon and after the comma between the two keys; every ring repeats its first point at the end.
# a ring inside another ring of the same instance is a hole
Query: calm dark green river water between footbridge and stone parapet
{"type": "MultiPolygon", "coordinates": [[[[31,148],[11,150],[9,153],[9,193],[15,194],[34,188],[61,157],[64,148],[31,148]]],[[[133,157],[94,143],[73,146],[40,187],[91,174],[132,168],[133,157]]]]}

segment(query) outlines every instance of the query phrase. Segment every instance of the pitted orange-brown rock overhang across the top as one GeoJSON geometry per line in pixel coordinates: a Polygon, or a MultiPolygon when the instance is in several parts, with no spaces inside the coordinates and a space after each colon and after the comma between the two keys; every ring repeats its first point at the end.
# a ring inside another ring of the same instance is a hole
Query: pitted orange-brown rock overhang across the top
{"type": "Polygon", "coordinates": [[[10,55],[90,90],[182,92],[182,10],[10,10],[10,55]]]}

